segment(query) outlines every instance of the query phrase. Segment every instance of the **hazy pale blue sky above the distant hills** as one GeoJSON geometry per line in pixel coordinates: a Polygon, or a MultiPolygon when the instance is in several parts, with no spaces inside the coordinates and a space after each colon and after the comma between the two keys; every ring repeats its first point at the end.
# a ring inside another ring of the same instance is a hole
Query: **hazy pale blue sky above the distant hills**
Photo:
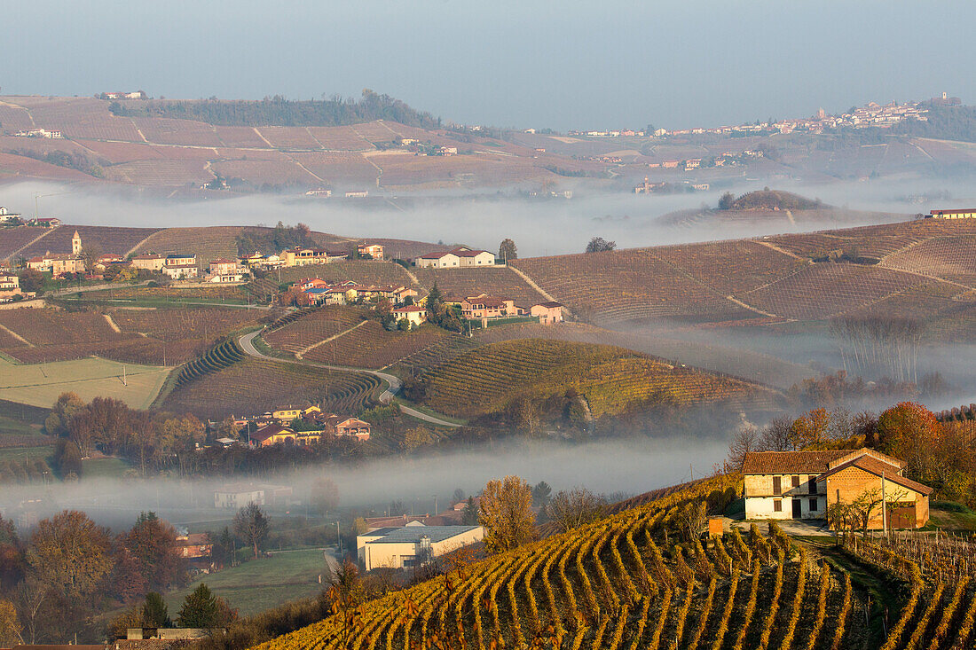
{"type": "Polygon", "coordinates": [[[261,99],[363,88],[445,120],[690,128],[976,102],[976,3],[0,0],[0,92],[261,99]],[[14,26],[15,28],[10,28],[14,26]]]}

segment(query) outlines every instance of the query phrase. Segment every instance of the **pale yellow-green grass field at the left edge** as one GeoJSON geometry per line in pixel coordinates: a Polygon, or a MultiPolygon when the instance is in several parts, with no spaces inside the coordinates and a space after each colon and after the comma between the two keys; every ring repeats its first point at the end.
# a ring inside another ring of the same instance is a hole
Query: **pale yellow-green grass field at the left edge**
{"type": "Polygon", "coordinates": [[[85,401],[101,395],[121,399],[132,408],[145,409],[171,370],[99,358],[23,365],[0,359],[0,399],[49,407],[62,392],[71,390],[85,401]]]}

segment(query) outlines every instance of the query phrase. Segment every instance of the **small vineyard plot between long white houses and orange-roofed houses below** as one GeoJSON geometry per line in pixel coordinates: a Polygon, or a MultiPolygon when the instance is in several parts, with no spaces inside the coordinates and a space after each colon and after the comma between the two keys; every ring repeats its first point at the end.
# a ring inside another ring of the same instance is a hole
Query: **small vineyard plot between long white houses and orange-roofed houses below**
{"type": "Polygon", "coordinates": [[[437,288],[447,300],[462,300],[468,296],[488,294],[515,301],[515,305],[529,307],[545,303],[546,298],[507,266],[482,268],[415,268],[413,273],[427,288],[437,288]]]}

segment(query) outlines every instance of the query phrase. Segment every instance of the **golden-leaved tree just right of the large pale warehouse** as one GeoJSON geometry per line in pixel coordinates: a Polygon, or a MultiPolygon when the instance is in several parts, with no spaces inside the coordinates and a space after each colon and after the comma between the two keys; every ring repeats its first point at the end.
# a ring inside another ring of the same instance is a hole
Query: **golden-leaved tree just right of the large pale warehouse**
{"type": "Polygon", "coordinates": [[[518,476],[488,481],[481,494],[478,520],[485,527],[485,546],[502,552],[531,541],[536,534],[532,489],[518,476]]]}

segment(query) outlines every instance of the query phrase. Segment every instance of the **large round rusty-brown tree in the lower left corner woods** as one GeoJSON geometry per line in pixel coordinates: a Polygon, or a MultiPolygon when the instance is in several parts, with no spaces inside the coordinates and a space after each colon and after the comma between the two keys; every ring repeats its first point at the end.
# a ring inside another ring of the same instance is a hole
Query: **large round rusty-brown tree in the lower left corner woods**
{"type": "Polygon", "coordinates": [[[64,510],[37,524],[27,548],[31,573],[71,598],[102,587],[112,569],[108,531],[84,512],[64,510]]]}

